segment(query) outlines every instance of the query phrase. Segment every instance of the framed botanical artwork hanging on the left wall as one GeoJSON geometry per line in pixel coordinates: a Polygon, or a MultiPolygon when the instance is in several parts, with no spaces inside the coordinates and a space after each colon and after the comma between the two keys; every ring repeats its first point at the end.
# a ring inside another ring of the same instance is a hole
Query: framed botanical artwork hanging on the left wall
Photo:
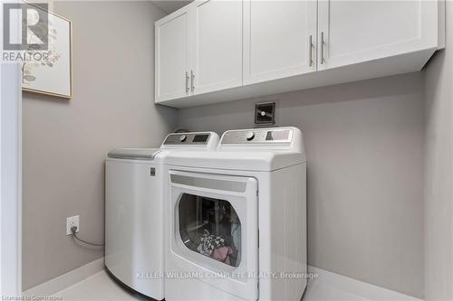
{"type": "MultiPolygon", "coordinates": [[[[48,49],[40,50],[40,44],[28,41],[27,52],[42,53],[41,60],[24,61],[22,65],[22,89],[24,91],[52,95],[65,99],[72,98],[72,24],[60,15],[34,6],[48,14],[48,49]]],[[[38,14],[27,14],[33,23],[38,14]]],[[[33,40],[35,37],[27,37],[33,40]]]]}

